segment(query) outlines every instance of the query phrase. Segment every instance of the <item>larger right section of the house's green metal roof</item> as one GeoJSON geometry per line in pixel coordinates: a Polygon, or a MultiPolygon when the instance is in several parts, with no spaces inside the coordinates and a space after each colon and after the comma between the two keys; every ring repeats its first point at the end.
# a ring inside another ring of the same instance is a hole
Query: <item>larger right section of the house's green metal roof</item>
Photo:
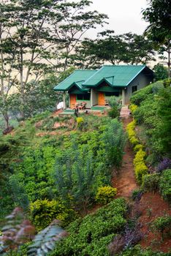
{"type": "Polygon", "coordinates": [[[145,68],[147,68],[145,65],[105,65],[94,75],[91,75],[82,85],[96,87],[102,81],[106,81],[109,86],[128,86],[145,68]]]}

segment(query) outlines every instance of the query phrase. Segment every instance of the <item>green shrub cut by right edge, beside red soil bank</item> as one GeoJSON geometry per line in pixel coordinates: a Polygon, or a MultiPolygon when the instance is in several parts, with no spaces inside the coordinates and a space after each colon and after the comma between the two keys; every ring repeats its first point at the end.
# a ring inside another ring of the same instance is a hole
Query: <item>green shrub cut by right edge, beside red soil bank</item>
{"type": "Polygon", "coordinates": [[[171,203],[171,169],[162,173],[159,181],[159,191],[162,197],[171,203]]]}

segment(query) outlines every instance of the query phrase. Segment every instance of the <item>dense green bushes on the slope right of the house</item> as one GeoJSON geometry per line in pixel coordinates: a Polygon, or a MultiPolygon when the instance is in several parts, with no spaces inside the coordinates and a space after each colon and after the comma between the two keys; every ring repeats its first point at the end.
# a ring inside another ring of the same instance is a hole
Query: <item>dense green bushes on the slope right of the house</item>
{"type": "Polygon", "coordinates": [[[170,156],[170,87],[159,81],[137,91],[131,97],[138,108],[134,119],[145,133],[145,144],[153,159],[170,156]]]}

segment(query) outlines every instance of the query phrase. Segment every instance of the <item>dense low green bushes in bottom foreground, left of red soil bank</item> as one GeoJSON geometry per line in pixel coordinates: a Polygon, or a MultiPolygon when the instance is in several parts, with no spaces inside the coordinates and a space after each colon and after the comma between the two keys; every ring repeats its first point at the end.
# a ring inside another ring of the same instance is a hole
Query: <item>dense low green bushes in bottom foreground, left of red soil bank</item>
{"type": "Polygon", "coordinates": [[[77,219],[69,225],[69,236],[56,246],[51,255],[110,255],[107,244],[123,230],[125,214],[126,202],[118,198],[94,214],[77,219]]]}

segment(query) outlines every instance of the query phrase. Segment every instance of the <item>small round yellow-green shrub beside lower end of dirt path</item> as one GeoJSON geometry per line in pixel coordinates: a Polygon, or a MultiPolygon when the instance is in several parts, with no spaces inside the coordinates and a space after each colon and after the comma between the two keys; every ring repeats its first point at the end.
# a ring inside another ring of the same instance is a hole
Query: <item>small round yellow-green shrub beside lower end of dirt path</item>
{"type": "Polygon", "coordinates": [[[117,189],[109,186],[99,187],[96,193],[96,202],[106,204],[113,200],[116,195],[117,189]]]}

